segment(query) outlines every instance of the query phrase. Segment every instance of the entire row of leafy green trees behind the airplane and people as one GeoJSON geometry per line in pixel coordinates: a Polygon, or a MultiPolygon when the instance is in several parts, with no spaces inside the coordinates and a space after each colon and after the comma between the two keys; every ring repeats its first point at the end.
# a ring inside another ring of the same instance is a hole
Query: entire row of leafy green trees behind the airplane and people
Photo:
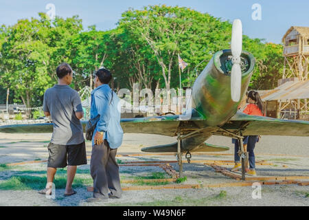
{"type": "MultiPolygon", "coordinates": [[[[62,62],[73,68],[71,87],[76,90],[93,88],[93,73],[100,67],[112,72],[115,89],[132,89],[135,83],[152,91],[171,89],[179,87],[178,54],[188,64],[182,84],[192,86],[211,56],[228,49],[231,41],[231,22],[178,6],[130,8],[108,31],[94,25],[84,30],[78,16],[50,21],[38,15],[0,28],[1,91],[9,87],[14,102],[27,107],[42,105],[62,62]]],[[[243,36],[243,50],[257,61],[250,89],[273,89],[282,77],[282,45],[243,36]]]]}

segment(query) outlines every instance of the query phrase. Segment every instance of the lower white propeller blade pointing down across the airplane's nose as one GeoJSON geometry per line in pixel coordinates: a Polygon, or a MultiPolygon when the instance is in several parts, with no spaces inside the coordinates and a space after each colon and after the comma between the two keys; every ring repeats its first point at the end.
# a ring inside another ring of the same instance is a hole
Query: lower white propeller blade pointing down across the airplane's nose
{"type": "Polygon", "coordinates": [[[238,63],[233,64],[231,69],[231,98],[234,102],[240,100],[242,87],[242,69],[238,63]]]}

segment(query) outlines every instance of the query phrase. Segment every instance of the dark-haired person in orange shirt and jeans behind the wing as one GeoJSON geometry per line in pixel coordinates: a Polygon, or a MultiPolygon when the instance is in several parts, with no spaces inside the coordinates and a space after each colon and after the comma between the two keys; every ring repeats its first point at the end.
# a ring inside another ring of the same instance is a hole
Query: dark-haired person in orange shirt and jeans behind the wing
{"type": "MultiPolygon", "coordinates": [[[[242,111],[247,115],[256,115],[256,116],[263,116],[264,115],[264,107],[263,102],[258,94],[258,91],[249,91],[247,93],[247,107],[242,111]]],[[[255,155],[254,155],[254,148],[256,142],[258,142],[258,135],[250,135],[244,136],[244,145],[247,144],[247,151],[249,152],[249,170],[247,171],[248,175],[256,176],[255,171],[255,155]]],[[[231,169],[231,171],[240,170],[240,157],[238,155],[239,151],[239,143],[238,140],[233,139],[232,142],[235,144],[235,152],[234,152],[234,161],[235,166],[231,169]]]]}

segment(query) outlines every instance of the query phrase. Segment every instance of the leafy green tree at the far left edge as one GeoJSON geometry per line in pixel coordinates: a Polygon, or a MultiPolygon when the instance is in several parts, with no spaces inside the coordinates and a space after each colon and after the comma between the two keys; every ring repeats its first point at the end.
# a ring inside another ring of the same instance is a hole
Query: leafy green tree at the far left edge
{"type": "Polygon", "coordinates": [[[43,95],[51,82],[43,63],[48,59],[44,39],[45,32],[38,19],[21,19],[7,28],[1,47],[1,85],[9,85],[27,107],[32,107],[35,99],[43,95]]]}

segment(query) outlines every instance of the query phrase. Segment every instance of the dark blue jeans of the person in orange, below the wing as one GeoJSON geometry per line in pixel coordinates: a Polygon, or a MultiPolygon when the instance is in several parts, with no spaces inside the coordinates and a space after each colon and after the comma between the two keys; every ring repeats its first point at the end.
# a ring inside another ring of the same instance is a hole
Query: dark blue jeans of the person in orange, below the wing
{"type": "MultiPolygon", "coordinates": [[[[235,140],[235,139],[234,139],[235,140]]],[[[235,145],[234,150],[234,161],[236,163],[240,163],[240,157],[238,155],[239,151],[239,143],[238,140],[232,141],[235,145]]],[[[255,144],[258,142],[258,135],[253,136],[244,136],[244,144],[247,144],[247,151],[249,152],[249,166],[251,170],[255,169],[255,155],[254,155],[254,148],[255,144]]]]}

